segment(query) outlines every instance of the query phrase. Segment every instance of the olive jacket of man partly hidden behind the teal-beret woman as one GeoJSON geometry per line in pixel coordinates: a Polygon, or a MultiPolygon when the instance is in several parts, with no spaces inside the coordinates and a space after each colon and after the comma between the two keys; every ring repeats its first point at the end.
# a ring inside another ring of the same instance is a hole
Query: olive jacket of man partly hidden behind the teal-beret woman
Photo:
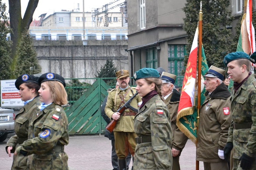
{"type": "Polygon", "coordinates": [[[188,140],[188,137],[182,133],[176,125],[180,97],[180,92],[174,89],[172,94],[170,94],[170,96],[168,96],[164,101],[170,113],[170,121],[173,133],[172,147],[180,151],[178,156],[181,155],[181,151],[185,147],[188,140]]]}

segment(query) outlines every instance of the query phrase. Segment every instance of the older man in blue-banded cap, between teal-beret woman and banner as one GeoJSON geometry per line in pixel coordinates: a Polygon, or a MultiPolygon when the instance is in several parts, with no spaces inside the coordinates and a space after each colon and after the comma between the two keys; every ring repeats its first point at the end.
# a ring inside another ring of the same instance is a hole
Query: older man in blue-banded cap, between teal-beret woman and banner
{"type": "Polygon", "coordinates": [[[161,79],[163,82],[161,93],[165,104],[169,109],[170,122],[172,128],[172,169],[180,170],[180,155],[187,142],[187,136],[180,131],[176,126],[176,119],[178,114],[178,107],[180,103],[181,94],[174,90],[174,83],[176,75],[167,72],[162,72],[161,79]]]}

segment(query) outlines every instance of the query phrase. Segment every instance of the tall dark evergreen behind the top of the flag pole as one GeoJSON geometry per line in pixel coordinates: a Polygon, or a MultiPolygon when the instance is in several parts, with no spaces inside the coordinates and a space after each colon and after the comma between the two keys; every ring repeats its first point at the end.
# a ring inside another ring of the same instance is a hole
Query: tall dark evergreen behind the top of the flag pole
{"type": "MultiPolygon", "coordinates": [[[[202,1],[202,43],[209,67],[214,65],[226,69],[223,64],[223,58],[228,53],[233,52],[232,32],[231,29],[227,28],[233,20],[229,5],[230,2],[227,0],[202,1]]],[[[188,35],[186,51],[189,53],[197,27],[200,1],[186,0],[183,10],[185,12],[184,30],[188,35]]],[[[189,54],[185,56],[185,65],[187,64],[188,56],[189,54]]]]}

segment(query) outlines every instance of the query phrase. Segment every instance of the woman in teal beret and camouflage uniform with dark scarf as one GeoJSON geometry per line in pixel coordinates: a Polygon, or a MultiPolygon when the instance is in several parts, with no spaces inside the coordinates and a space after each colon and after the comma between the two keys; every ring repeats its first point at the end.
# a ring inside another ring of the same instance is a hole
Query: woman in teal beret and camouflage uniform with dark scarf
{"type": "Polygon", "coordinates": [[[134,169],[172,169],[172,129],[170,114],[161,94],[162,81],[152,68],[136,71],[136,90],[142,97],[139,113],[134,118],[138,143],[134,169]]]}

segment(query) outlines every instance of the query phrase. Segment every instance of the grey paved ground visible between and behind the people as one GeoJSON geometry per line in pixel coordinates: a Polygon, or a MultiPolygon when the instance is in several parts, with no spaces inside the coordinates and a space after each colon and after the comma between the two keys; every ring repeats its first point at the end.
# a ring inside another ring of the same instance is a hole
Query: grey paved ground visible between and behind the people
{"type": "MultiPolygon", "coordinates": [[[[11,157],[5,152],[6,142],[14,135],[9,134],[8,138],[0,142],[0,170],[9,170],[12,166],[13,154],[11,157]]],[[[111,141],[104,135],[97,136],[70,136],[69,144],[65,146],[68,154],[68,166],[70,170],[111,170],[111,141]]],[[[132,163],[130,163],[131,169],[132,163]]],[[[196,146],[190,140],[180,156],[181,170],[196,169],[196,146]]],[[[203,163],[200,162],[199,170],[203,170],[203,163]]]]}

